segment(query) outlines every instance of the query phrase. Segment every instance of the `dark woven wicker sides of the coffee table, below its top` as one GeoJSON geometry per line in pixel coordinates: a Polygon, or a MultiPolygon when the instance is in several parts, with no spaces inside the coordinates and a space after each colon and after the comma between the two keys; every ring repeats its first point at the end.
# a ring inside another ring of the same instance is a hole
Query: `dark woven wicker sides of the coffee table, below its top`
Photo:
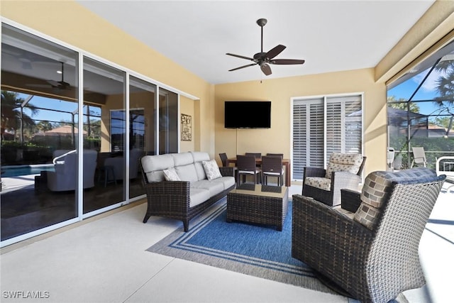
{"type": "Polygon", "coordinates": [[[254,194],[227,194],[227,221],[244,221],[276,226],[282,231],[289,206],[288,187],[283,197],[265,197],[254,194]]]}

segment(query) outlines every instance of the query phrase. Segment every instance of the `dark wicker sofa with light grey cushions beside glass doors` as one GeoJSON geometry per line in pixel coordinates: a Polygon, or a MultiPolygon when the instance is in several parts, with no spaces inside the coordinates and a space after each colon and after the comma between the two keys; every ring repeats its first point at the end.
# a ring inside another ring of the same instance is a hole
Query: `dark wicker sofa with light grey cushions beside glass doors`
{"type": "Polygon", "coordinates": [[[148,200],[143,223],[163,216],[189,231],[189,220],[236,187],[233,167],[218,167],[204,152],[145,155],[140,164],[148,200]]]}

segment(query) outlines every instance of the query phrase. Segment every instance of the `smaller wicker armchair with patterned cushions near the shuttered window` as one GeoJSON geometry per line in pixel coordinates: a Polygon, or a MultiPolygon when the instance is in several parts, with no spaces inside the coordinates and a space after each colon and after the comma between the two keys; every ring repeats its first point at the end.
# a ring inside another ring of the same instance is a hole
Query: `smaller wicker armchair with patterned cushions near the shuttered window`
{"type": "Polygon", "coordinates": [[[304,167],[303,196],[329,206],[341,204],[341,189],[358,190],[366,157],[353,153],[332,153],[326,170],[304,167]]]}

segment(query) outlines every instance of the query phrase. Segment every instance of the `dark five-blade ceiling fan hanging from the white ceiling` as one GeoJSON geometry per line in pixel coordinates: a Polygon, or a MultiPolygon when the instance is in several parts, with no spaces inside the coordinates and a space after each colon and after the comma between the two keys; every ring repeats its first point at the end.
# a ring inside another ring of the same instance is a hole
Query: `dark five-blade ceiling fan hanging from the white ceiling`
{"type": "MultiPolygon", "coordinates": [[[[241,59],[246,59],[246,60],[251,60],[254,63],[248,64],[248,65],[243,65],[240,67],[236,67],[233,70],[240,70],[241,68],[245,67],[250,67],[253,65],[260,65],[260,69],[265,75],[271,75],[271,67],[270,64],[275,64],[275,65],[295,65],[295,64],[303,64],[304,60],[297,60],[297,59],[273,59],[277,55],[279,55],[282,50],[284,50],[286,47],[284,45],[277,45],[275,48],[272,48],[269,50],[267,53],[263,53],[263,26],[267,23],[267,19],[260,18],[257,21],[258,26],[262,29],[262,43],[261,43],[261,50],[260,53],[256,53],[252,58],[251,57],[245,57],[241,55],[235,55],[231,53],[226,53],[226,55],[233,56],[233,57],[238,57],[241,59]]],[[[229,72],[233,71],[229,70],[229,72]]]]}

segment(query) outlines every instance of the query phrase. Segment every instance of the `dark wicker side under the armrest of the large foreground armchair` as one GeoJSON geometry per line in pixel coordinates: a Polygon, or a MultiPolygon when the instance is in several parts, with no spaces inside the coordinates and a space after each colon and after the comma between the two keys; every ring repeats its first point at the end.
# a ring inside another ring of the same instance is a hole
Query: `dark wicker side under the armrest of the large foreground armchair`
{"type": "Polygon", "coordinates": [[[292,257],[333,281],[358,284],[355,268],[367,262],[372,231],[315,199],[294,194],[292,204],[292,257]]]}

